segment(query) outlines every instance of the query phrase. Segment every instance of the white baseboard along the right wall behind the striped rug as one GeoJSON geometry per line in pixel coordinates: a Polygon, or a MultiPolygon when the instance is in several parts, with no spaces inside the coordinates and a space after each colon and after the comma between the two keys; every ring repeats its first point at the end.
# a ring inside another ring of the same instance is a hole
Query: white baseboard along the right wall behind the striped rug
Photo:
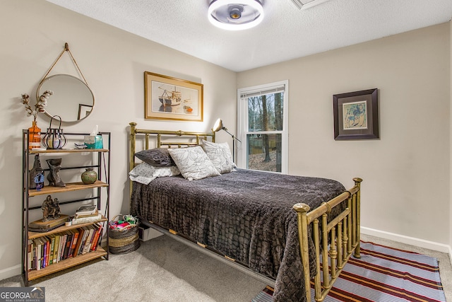
{"type": "Polygon", "coordinates": [[[436,243],[429,240],[423,240],[414,237],[403,236],[395,233],[374,230],[373,228],[361,227],[361,233],[369,236],[375,236],[383,239],[393,240],[404,244],[415,245],[420,248],[428,248],[429,250],[436,250],[438,252],[447,252],[452,260],[452,248],[450,245],[443,243],[436,243]]]}

